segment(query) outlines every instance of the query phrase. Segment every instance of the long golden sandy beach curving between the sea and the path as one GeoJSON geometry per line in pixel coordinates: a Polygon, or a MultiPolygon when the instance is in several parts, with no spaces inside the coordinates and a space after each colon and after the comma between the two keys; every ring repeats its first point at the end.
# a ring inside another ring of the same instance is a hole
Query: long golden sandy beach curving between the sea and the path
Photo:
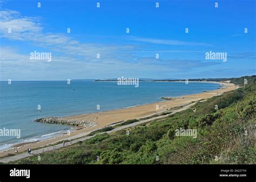
{"type": "MultiPolygon", "coordinates": [[[[217,83],[217,82],[211,82],[211,83],[217,83]]],[[[237,89],[237,86],[231,83],[218,83],[221,84],[220,89],[214,90],[214,91],[207,91],[202,93],[196,93],[193,95],[187,95],[187,96],[180,96],[180,97],[173,97],[170,100],[163,100],[163,102],[157,102],[152,104],[145,104],[140,106],[134,106],[129,107],[125,109],[119,109],[119,110],[111,110],[111,111],[104,111],[104,112],[97,112],[97,113],[89,113],[89,114],[80,114],[77,116],[70,116],[65,117],[64,119],[74,119],[74,120],[93,120],[98,123],[98,125],[87,128],[87,129],[81,129],[81,127],[77,128],[78,130],[71,132],[70,134],[63,134],[62,136],[58,136],[55,138],[42,140],[42,141],[35,141],[33,143],[25,143],[25,144],[18,144],[16,146],[12,146],[12,148],[16,147],[16,150],[18,150],[18,153],[26,151],[29,147],[31,150],[37,149],[38,147],[43,147],[47,145],[51,145],[53,143],[56,143],[58,141],[65,140],[66,138],[69,138],[71,136],[77,136],[80,137],[83,133],[86,135],[90,131],[94,131],[97,129],[100,129],[102,127],[105,127],[107,125],[111,125],[113,123],[126,121],[129,119],[139,119],[151,116],[153,114],[168,111],[173,107],[186,105],[191,102],[197,102],[201,99],[207,99],[213,96],[221,95],[224,92],[231,91],[234,89],[237,89]]],[[[0,157],[4,157],[10,154],[15,154],[15,151],[13,149],[9,151],[2,151],[0,153],[0,157]]]]}

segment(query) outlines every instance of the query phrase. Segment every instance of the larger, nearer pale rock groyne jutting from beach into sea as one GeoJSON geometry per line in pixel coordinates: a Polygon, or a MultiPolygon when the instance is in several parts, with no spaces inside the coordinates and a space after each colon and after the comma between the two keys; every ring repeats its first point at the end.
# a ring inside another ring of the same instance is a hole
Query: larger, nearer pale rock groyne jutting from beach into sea
{"type": "Polygon", "coordinates": [[[56,118],[56,117],[39,118],[39,119],[36,119],[35,122],[47,123],[47,124],[83,126],[86,128],[90,128],[90,127],[98,125],[98,123],[92,122],[90,120],[85,120],[85,121],[84,120],[78,121],[78,120],[73,120],[73,119],[65,120],[63,118],[56,118]]]}

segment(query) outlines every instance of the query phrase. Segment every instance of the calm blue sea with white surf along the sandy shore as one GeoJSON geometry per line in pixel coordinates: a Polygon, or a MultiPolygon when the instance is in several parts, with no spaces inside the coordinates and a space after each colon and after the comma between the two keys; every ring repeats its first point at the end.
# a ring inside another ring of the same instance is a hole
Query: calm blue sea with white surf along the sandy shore
{"type": "Polygon", "coordinates": [[[0,82],[0,129],[21,129],[21,138],[0,136],[0,150],[10,144],[42,140],[71,129],[33,122],[37,118],[120,109],[218,87],[215,83],[191,82],[139,82],[139,87],[94,80],[71,80],[70,85],[66,81],[13,81],[10,85],[0,82]],[[41,111],[37,110],[38,104],[41,111]]]}

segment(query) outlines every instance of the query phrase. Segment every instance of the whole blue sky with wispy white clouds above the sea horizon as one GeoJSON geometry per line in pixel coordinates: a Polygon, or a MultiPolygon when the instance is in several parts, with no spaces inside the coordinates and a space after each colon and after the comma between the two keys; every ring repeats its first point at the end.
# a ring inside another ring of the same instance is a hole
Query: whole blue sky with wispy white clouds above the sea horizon
{"type": "Polygon", "coordinates": [[[1,80],[256,73],[255,1],[39,2],[0,0],[1,80]],[[51,52],[52,61],[30,59],[34,51],[51,52]],[[209,51],[226,52],[227,61],[205,59],[209,51]]]}

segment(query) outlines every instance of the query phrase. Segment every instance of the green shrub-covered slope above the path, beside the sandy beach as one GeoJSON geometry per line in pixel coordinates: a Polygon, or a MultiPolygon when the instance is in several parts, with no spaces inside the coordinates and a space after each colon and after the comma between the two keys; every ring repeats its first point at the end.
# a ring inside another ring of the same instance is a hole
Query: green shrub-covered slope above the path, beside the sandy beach
{"type": "MultiPolygon", "coordinates": [[[[243,85],[243,80],[231,81],[243,85]]],[[[256,78],[247,77],[247,80],[245,88],[197,103],[169,118],[133,127],[129,136],[126,130],[99,134],[41,154],[41,161],[33,156],[14,163],[255,164],[256,78]],[[197,138],[176,137],[174,131],[180,127],[197,129],[197,138]],[[98,161],[97,156],[100,156],[98,161]]]]}

